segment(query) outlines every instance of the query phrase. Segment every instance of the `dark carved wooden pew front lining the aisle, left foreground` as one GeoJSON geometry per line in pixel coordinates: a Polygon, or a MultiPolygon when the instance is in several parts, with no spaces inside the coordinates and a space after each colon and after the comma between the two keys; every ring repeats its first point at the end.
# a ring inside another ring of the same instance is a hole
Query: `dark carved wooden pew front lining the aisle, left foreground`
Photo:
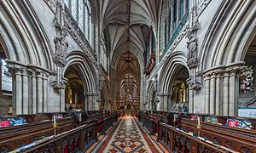
{"type": "Polygon", "coordinates": [[[84,124],[55,137],[48,137],[32,144],[24,145],[15,151],[27,153],[69,153],[85,152],[91,144],[97,141],[96,122],[84,124]]]}

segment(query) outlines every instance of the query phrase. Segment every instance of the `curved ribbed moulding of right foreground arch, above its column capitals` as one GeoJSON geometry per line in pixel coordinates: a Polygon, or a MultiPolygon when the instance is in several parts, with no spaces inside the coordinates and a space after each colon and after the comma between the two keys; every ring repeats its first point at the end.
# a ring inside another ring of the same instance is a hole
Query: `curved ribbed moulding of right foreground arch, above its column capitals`
{"type": "Polygon", "coordinates": [[[207,70],[244,60],[256,35],[255,15],[254,1],[224,1],[212,20],[199,52],[200,69],[207,70]]]}

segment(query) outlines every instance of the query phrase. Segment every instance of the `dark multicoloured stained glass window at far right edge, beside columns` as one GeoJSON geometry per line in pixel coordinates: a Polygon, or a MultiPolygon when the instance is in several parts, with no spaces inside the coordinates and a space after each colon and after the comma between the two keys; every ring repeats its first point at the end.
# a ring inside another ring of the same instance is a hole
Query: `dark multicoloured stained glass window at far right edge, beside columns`
{"type": "Polygon", "coordinates": [[[246,70],[240,77],[240,93],[253,94],[254,91],[254,65],[253,63],[246,64],[246,70]]]}

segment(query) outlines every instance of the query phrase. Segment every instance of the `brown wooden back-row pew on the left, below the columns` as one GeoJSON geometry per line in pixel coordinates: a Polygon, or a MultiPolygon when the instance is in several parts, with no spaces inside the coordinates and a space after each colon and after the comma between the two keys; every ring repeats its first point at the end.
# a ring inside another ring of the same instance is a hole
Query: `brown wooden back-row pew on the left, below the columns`
{"type": "MultiPolygon", "coordinates": [[[[54,114],[52,114],[54,115],[54,114]]],[[[47,115],[48,116],[48,115],[47,115]]],[[[23,116],[24,117],[24,116],[23,116]]],[[[32,122],[35,115],[26,116],[30,123],[15,127],[5,127],[0,129],[0,152],[15,150],[24,144],[30,144],[42,137],[48,137],[54,133],[63,133],[75,127],[74,118],[56,119],[57,127],[53,127],[51,120],[45,122],[32,122]]],[[[46,119],[40,115],[41,119],[46,119]]],[[[49,119],[49,118],[48,118],[49,119]]],[[[37,121],[40,121],[37,119],[37,121]]]]}

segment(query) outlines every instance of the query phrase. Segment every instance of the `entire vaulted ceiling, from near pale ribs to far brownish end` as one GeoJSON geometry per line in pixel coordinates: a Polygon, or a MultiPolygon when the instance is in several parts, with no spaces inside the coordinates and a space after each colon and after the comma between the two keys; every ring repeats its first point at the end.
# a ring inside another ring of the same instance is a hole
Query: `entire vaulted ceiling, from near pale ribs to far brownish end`
{"type": "Polygon", "coordinates": [[[99,26],[116,69],[117,95],[139,96],[143,54],[150,32],[157,33],[162,0],[101,0],[99,26]],[[127,61],[131,59],[131,61],[127,61]]]}

